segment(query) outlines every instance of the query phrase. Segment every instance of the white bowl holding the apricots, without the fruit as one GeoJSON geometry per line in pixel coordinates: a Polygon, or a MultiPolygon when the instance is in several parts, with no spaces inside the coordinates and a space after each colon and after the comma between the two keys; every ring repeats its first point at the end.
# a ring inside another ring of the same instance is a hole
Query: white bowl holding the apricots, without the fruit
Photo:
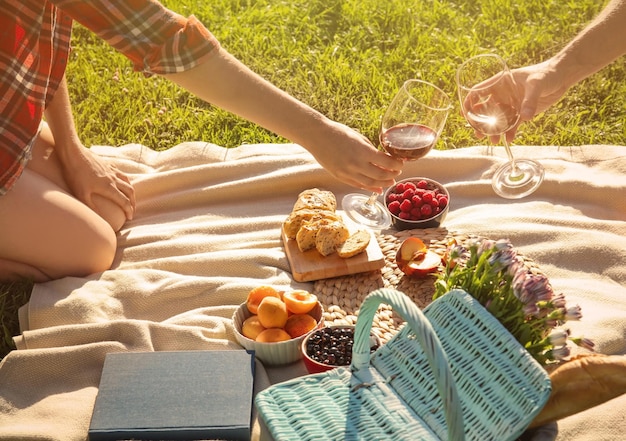
{"type": "MultiPolygon", "coordinates": [[[[317,305],[313,308],[313,310],[309,312],[309,314],[313,316],[315,320],[317,320],[317,327],[315,329],[324,326],[324,308],[319,301],[317,302],[317,305]]],[[[302,358],[302,341],[315,329],[311,330],[307,334],[301,335],[297,338],[292,338],[291,340],[287,341],[281,341],[276,343],[256,342],[249,339],[248,337],[245,337],[241,333],[242,323],[251,315],[252,314],[250,313],[250,311],[248,311],[245,303],[242,303],[233,314],[235,337],[237,338],[237,342],[241,346],[248,350],[253,350],[255,352],[255,356],[268,366],[289,364],[296,362],[302,358]]]]}

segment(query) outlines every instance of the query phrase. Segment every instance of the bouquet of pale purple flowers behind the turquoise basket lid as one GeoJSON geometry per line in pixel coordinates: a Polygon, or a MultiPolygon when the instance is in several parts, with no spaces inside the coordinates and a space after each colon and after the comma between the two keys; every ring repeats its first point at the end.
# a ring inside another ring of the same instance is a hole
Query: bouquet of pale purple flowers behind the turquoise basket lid
{"type": "Polygon", "coordinates": [[[580,306],[568,307],[548,279],[530,271],[508,240],[453,244],[434,298],[460,288],[477,299],[541,365],[570,355],[568,342],[593,350],[593,342],[570,335],[563,325],[580,320],[580,306]]]}

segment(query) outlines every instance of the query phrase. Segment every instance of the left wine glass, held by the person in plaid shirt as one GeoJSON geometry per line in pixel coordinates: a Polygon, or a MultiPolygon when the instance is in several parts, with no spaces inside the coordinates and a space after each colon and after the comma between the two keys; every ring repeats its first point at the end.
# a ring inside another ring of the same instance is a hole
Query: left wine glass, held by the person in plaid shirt
{"type": "MultiPolygon", "coordinates": [[[[437,86],[422,80],[405,81],[383,115],[380,147],[407,161],[426,156],[437,143],[451,108],[450,98],[437,86]]],[[[351,193],[341,205],[355,222],[383,229],[391,225],[391,216],[379,196],[351,193]]]]}

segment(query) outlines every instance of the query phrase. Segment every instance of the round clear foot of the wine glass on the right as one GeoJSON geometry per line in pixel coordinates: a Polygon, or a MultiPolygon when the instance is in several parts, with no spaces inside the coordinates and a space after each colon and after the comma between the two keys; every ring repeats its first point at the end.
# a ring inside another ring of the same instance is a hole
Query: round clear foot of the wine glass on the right
{"type": "Polygon", "coordinates": [[[498,196],[520,199],[533,193],[543,182],[545,170],[537,161],[516,159],[515,168],[513,174],[511,163],[507,162],[496,170],[491,184],[498,196]]]}

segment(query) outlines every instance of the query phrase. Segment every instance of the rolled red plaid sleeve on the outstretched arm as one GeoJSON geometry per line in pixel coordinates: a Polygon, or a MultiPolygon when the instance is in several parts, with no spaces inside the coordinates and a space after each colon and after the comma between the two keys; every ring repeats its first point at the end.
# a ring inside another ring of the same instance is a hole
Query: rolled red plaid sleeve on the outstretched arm
{"type": "Polygon", "coordinates": [[[146,74],[170,74],[204,62],[220,45],[194,16],[156,0],[52,0],[146,74]]]}

